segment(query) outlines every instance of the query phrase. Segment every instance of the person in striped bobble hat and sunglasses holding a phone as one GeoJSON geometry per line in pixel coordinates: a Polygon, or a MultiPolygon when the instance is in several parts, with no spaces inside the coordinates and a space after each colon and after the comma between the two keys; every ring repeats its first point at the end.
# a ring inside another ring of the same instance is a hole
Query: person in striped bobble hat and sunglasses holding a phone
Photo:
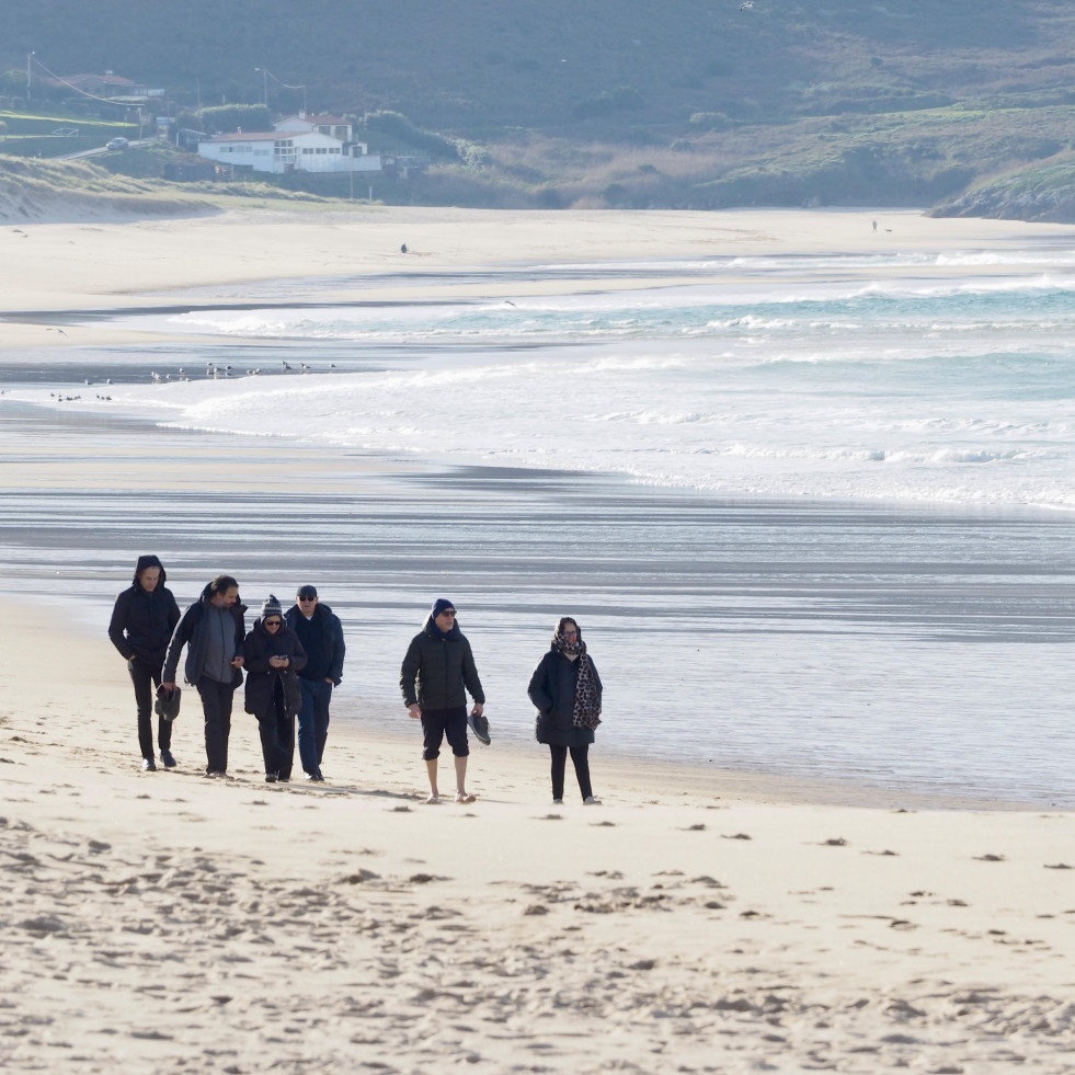
{"type": "Polygon", "coordinates": [[[298,673],[306,667],[306,653],[272,594],[247,636],[243,655],[245,710],[258,718],[265,781],[287,784],[295,759],[295,716],[302,708],[298,673]]]}

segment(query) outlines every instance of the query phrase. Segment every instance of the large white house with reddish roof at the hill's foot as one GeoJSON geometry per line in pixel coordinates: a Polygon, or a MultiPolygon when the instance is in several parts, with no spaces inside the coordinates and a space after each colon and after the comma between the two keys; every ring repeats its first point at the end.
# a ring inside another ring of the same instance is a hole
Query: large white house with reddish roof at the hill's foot
{"type": "Polygon", "coordinates": [[[198,140],[198,153],[218,164],[254,172],[379,172],[379,153],[352,139],[346,119],[290,116],[273,130],[215,135],[198,140]]]}

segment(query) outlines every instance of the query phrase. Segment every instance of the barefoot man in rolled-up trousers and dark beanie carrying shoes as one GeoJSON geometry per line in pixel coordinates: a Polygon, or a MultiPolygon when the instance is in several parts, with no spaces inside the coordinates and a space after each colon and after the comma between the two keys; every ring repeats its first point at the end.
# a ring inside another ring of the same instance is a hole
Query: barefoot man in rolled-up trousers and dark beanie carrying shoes
{"type": "Polygon", "coordinates": [[[422,721],[422,757],[430,777],[426,802],[441,801],[437,758],[445,736],[455,755],[456,802],[473,802],[474,797],[467,791],[467,691],[474,699],[474,717],[482,716],[485,695],[470,642],[459,630],[455,605],[447,598],[433,603],[425,626],[411,639],[399,686],[408,714],[422,721]]]}

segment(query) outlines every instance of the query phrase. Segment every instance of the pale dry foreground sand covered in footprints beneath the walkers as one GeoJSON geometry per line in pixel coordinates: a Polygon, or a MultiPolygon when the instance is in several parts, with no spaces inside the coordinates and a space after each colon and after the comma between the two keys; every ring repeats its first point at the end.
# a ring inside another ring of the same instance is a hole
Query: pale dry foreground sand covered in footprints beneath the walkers
{"type": "Polygon", "coordinates": [[[569,778],[552,808],[541,748],[495,737],[471,757],[478,801],[428,807],[402,706],[374,741],[338,714],[324,787],[265,785],[237,712],[235,779],[211,781],[190,691],[179,769],[142,774],[103,627],[19,620],[0,652],[5,1071],[1075,1062],[1070,814],[742,798],[613,768],[599,742],[604,804],[569,778]]]}

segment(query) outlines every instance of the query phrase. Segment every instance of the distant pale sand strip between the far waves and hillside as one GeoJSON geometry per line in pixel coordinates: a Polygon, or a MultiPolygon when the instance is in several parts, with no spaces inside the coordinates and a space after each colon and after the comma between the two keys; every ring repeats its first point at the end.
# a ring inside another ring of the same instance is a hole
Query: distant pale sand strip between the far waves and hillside
{"type": "MultiPolygon", "coordinates": [[[[412,302],[431,298],[490,294],[540,295],[591,290],[592,282],[572,283],[572,266],[599,262],[662,262],[753,255],[847,255],[896,251],[940,253],[953,248],[1003,251],[1011,242],[1050,245],[1075,243],[1075,225],[933,218],[916,209],[870,213],[867,209],[579,210],[510,213],[451,208],[356,208],[354,213],[236,210],[214,217],[168,220],[26,224],[0,229],[4,258],[0,290],[0,350],[27,346],[102,345],[146,342],[95,325],[76,335],[45,338],[42,325],[58,312],[78,321],[80,312],[152,309],[162,295],[198,288],[258,286],[273,282],[313,282],[321,298],[335,301],[412,302]],[[885,224],[873,235],[870,221],[885,224]],[[889,229],[888,225],[892,225],[889,229]],[[401,241],[409,253],[401,254],[401,241]],[[286,260],[281,251],[286,250],[286,260]],[[105,274],[87,272],[106,265],[105,274]],[[426,277],[443,270],[544,263],[565,270],[553,283],[508,282],[492,290],[466,279],[439,283],[426,277]],[[393,279],[379,278],[388,274],[393,279]],[[334,287],[329,282],[336,281],[334,287]],[[23,321],[14,318],[24,318],[23,321]],[[41,319],[41,320],[38,320],[41,319]]],[[[928,267],[923,267],[928,273],[928,267]]],[[[983,275],[1033,266],[997,264],[983,275]]],[[[700,283],[696,266],[679,283],[700,283]]],[[[667,276],[660,277],[670,283],[667,276]]],[[[637,279],[608,279],[606,289],[653,283],[644,271],[637,279]]],[[[302,295],[301,286],[289,298],[302,295]]],[[[227,306],[228,296],[205,305],[227,306]]],[[[171,305],[171,304],[167,304],[171,305]]],[[[267,300],[265,306],[274,305],[267,300]]],[[[64,322],[68,323],[68,322],[64,322]]],[[[182,336],[176,336],[182,339],[182,336]]]]}

